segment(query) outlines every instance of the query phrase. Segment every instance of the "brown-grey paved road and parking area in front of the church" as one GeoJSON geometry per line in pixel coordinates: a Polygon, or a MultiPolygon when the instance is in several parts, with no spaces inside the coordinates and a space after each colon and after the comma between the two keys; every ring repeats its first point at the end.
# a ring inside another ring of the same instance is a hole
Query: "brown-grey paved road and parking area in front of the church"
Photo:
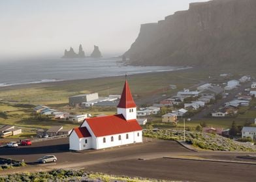
{"type": "MultiPolygon", "coordinates": [[[[120,148],[70,152],[68,138],[35,142],[33,146],[19,148],[0,148],[0,156],[14,160],[31,162],[25,168],[7,172],[44,171],[54,168],[72,168],[106,172],[116,175],[153,177],[159,179],[190,181],[253,181],[256,164],[236,164],[225,162],[186,161],[163,159],[163,157],[202,157],[205,159],[225,159],[241,161],[238,155],[248,153],[234,152],[193,152],[175,141],[152,140],[143,144],[131,144],[120,148]],[[56,155],[58,161],[49,164],[34,164],[42,155],[56,155]],[[144,159],[144,160],[138,160],[144,159]],[[217,180],[216,180],[217,179],[217,180]],[[225,180],[224,180],[225,179],[225,180]]],[[[250,160],[246,160],[250,161],[250,160]]],[[[255,161],[254,161],[255,162],[255,161]]],[[[255,162],[256,163],[256,162],[255,162]]]]}

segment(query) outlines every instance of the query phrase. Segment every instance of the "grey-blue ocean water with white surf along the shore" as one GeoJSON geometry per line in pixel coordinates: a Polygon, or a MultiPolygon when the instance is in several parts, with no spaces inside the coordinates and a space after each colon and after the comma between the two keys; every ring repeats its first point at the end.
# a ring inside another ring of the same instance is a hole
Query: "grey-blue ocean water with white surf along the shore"
{"type": "Polygon", "coordinates": [[[172,66],[125,66],[120,58],[36,59],[0,62],[0,86],[46,83],[72,79],[89,79],[167,72],[184,68],[172,66]]]}

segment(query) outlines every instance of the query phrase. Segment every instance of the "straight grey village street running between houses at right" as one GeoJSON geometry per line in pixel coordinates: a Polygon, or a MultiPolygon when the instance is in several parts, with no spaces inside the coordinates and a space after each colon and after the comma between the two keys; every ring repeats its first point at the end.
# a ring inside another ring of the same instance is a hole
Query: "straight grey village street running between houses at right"
{"type": "Polygon", "coordinates": [[[232,101],[232,99],[234,99],[238,93],[244,92],[244,89],[248,88],[250,86],[251,86],[251,83],[244,83],[241,86],[239,86],[239,88],[235,88],[234,90],[232,90],[232,92],[230,92],[230,94],[227,96],[227,98],[218,100],[216,104],[195,114],[195,116],[192,117],[192,120],[201,120],[202,118],[207,116],[209,113],[214,112],[215,110],[219,109],[219,107],[225,105],[225,103],[232,101]]]}

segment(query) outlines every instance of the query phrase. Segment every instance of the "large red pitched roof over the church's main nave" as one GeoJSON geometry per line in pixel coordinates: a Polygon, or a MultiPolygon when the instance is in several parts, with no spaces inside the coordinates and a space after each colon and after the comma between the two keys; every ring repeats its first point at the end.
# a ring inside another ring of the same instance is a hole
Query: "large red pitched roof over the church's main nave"
{"type": "Polygon", "coordinates": [[[88,123],[96,137],[142,130],[136,120],[127,121],[123,114],[87,118],[84,122],[88,123]]]}

